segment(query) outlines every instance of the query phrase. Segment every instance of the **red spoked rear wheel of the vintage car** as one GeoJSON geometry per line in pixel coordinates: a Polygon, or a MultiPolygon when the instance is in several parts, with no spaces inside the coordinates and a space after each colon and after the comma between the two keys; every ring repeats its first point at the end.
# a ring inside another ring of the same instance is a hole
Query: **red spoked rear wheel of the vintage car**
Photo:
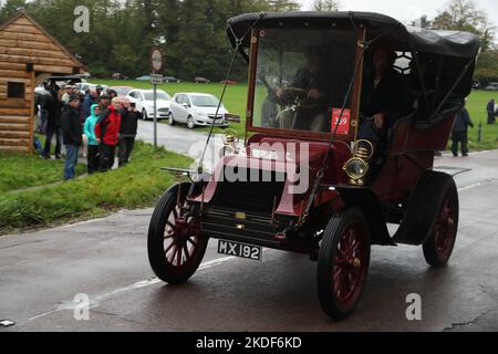
{"type": "Polygon", "coordinates": [[[450,178],[442,190],[439,209],[430,236],[424,243],[425,260],[433,268],[442,268],[448,263],[455,248],[458,218],[458,190],[454,179],[450,178]]]}

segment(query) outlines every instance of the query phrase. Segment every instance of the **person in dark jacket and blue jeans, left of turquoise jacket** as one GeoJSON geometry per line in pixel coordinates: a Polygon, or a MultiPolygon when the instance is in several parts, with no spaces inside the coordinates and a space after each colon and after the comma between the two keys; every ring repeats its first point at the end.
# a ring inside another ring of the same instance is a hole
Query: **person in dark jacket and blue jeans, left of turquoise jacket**
{"type": "Polygon", "coordinates": [[[72,94],[69,104],[62,108],[62,135],[66,150],[64,163],[64,180],[76,176],[77,152],[83,144],[83,129],[80,119],[80,96],[72,94]]]}

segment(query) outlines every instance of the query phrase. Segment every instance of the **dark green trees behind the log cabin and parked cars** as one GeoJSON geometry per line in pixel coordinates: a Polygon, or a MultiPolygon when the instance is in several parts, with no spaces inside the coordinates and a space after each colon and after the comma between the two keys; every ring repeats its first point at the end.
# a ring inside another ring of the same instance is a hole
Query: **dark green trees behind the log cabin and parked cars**
{"type": "MultiPolygon", "coordinates": [[[[94,76],[121,72],[143,75],[151,70],[151,49],[165,53],[165,72],[183,80],[225,79],[234,50],[227,40],[229,18],[246,12],[299,9],[280,0],[8,0],[0,14],[20,9],[40,22],[94,76]],[[27,6],[28,3],[28,6],[27,6]],[[76,33],[74,8],[90,9],[90,33],[76,33]]],[[[234,79],[247,77],[238,55],[234,79]]]]}

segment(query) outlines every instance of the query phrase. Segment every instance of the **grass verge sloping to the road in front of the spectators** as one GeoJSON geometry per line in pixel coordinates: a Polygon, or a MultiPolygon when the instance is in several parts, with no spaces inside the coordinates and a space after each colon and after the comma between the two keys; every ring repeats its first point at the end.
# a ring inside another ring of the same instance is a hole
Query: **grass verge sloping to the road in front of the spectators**
{"type": "MultiPolygon", "coordinates": [[[[18,177],[24,171],[29,175],[35,167],[28,166],[35,163],[35,158],[25,155],[23,159],[22,167],[18,162],[12,165],[4,163],[1,170],[17,166],[18,177]]],[[[9,185],[10,191],[0,194],[0,235],[100,217],[121,208],[152,207],[158,196],[176,181],[176,176],[162,171],[160,167],[185,168],[190,164],[188,157],[164,148],[155,150],[153,146],[137,142],[132,163],[124,168],[34,190],[14,191],[12,188],[23,188],[28,184],[9,185]]],[[[39,168],[41,173],[38,175],[43,175],[48,167],[40,165],[39,168]]],[[[61,173],[59,170],[58,180],[61,173]]],[[[3,179],[10,180],[12,176],[1,175],[0,179],[1,186],[7,186],[8,181],[3,179]]]]}

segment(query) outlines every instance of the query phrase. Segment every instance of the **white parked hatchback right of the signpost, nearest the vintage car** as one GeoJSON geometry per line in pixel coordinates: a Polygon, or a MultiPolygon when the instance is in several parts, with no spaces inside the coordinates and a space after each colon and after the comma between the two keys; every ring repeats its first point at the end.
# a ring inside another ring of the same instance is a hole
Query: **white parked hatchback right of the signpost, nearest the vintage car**
{"type": "MultiPolygon", "coordinates": [[[[187,124],[189,129],[196,126],[210,126],[215,119],[219,100],[205,93],[177,93],[172,101],[169,124],[187,124]]],[[[220,106],[215,119],[215,126],[226,127],[225,115],[229,114],[224,105],[220,106]]]]}

